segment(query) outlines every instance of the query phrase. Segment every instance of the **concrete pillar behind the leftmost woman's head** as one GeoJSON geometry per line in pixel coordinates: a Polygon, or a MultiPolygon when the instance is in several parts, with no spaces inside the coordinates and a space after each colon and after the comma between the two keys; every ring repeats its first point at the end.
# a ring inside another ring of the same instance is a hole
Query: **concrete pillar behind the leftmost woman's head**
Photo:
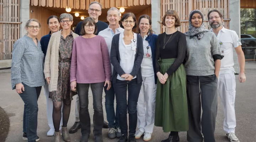
{"type": "Polygon", "coordinates": [[[20,1],[20,38],[22,38],[27,31],[24,29],[26,22],[30,19],[30,0],[20,1]]]}

